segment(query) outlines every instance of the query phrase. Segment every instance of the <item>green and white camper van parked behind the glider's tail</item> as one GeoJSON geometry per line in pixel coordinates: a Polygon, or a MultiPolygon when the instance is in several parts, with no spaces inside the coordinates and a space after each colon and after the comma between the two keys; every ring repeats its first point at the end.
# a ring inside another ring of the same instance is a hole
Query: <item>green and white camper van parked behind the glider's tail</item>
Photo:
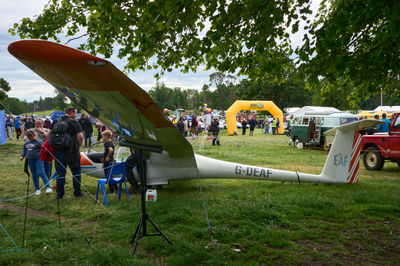
{"type": "Polygon", "coordinates": [[[344,112],[306,112],[304,115],[295,117],[290,140],[297,148],[305,145],[324,146],[329,149],[330,143],[324,132],[357,120],[356,115],[344,112]]]}

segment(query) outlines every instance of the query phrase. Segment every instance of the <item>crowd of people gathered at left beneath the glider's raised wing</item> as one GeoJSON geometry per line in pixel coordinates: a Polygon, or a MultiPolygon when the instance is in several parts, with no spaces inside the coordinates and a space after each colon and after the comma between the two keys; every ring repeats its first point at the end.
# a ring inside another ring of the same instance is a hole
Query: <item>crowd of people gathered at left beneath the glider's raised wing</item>
{"type": "MultiPolygon", "coordinates": [[[[53,192],[49,180],[52,177],[52,161],[54,160],[56,174],[53,176],[58,177],[54,186],[57,188],[57,199],[62,199],[65,194],[67,167],[70,168],[73,175],[74,196],[83,196],[81,192],[80,147],[83,143],[85,147],[89,147],[95,142],[95,139],[90,116],[82,114],[79,120],[76,120],[76,116],[77,109],[71,106],[67,107],[64,115],[55,121],[52,121],[49,117],[35,119],[34,116],[13,116],[11,114],[6,116],[6,137],[12,140],[13,131],[15,131],[16,139],[25,142],[20,160],[25,159],[25,171],[29,173],[28,169],[30,170],[35,195],[41,193],[39,178],[42,179],[46,188],[44,192],[53,192]],[[67,135],[68,140],[60,137],[67,135]],[[51,143],[55,139],[59,142],[51,143]]],[[[112,141],[110,141],[112,133],[106,130],[106,127],[100,121],[96,123],[96,128],[100,138],[103,136],[105,151],[107,150],[103,158],[106,167],[108,162],[114,160],[114,147],[110,145],[110,143],[112,144],[112,141]]]]}

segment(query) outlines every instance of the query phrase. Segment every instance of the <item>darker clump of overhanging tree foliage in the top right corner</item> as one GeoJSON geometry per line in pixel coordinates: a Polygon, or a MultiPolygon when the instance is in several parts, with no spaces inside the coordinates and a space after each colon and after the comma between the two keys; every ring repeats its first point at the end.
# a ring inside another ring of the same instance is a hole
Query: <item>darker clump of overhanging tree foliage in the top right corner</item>
{"type": "Polygon", "coordinates": [[[359,99],[383,92],[399,95],[400,2],[323,1],[296,52],[310,82],[343,80],[359,99]]]}

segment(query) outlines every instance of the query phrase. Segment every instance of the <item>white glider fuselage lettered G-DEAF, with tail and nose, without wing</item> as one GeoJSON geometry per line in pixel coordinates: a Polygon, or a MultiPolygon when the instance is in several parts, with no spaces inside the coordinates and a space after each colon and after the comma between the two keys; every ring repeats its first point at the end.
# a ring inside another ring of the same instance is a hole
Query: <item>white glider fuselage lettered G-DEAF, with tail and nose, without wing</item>
{"type": "MultiPolygon", "coordinates": [[[[363,120],[332,129],[331,133],[336,132],[336,135],[324,168],[319,175],[227,162],[198,154],[194,154],[195,166],[187,167],[188,164],[185,159],[173,159],[167,152],[163,151],[149,154],[147,158],[147,183],[149,185],[163,185],[168,184],[171,180],[221,178],[354,184],[358,182],[359,144],[361,140],[361,135],[356,130],[370,127],[376,123],[372,120],[363,120]]],[[[102,164],[94,163],[88,154],[82,153],[81,163],[82,173],[104,178],[102,164]]]]}

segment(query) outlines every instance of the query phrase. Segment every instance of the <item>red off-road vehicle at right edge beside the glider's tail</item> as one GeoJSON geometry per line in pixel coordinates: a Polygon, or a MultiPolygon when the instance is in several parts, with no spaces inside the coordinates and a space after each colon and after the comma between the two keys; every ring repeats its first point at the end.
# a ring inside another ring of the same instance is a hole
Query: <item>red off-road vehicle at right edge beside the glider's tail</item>
{"type": "Polygon", "coordinates": [[[385,161],[395,162],[400,167],[400,113],[392,114],[389,132],[364,135],[360,145],[368,170],[381,170],[385,161]]]}

